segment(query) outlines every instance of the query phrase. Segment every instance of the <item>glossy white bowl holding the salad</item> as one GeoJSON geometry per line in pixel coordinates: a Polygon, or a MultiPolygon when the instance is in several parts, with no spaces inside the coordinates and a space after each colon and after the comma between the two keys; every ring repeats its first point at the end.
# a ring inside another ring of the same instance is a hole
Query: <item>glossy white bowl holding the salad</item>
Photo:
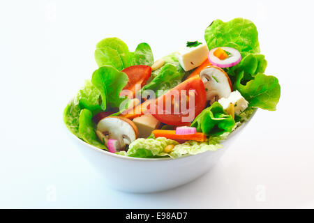
{"type": "Polygon", "coordinates": [[[247,123],[248,121],[244,122],[234,130],[227,140],[223,141],[223,148],[218,151],[207,151],[178,159],[126,157],[103,151],[72,133],[70,135],[75,139],[75,144],[82,155],[105,178],[108,186],[125,192],[147,193],[169,190],[205,174],[218,162],[247,123]]]}

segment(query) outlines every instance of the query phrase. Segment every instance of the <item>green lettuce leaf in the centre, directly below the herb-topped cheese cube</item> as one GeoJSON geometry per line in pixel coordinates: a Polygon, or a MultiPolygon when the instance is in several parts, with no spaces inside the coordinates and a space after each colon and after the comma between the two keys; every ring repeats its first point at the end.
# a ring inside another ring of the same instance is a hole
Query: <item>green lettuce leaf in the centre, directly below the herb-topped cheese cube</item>
{"type": "Polygon", "coordinates": [[[141,91],[152,90],[156,93],[156,98],[158,98],[163,93],[166,93],[180,84],[181,78],[181,74],[177,71],[177,68],[168,63],[161,68],[158,76],[149,82],[149,84],[142,87],[141,91]],[[159,92],[158,95],[158,90],[163,91],[163,93],[159,92]]]}

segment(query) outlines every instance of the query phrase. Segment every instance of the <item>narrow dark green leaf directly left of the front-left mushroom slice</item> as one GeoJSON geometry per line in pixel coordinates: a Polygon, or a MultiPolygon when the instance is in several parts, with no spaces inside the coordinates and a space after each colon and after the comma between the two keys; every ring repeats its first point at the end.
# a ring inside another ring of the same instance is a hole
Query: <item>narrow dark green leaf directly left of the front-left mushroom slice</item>
{"type": "Polygon", "coordinates": [[[98,141],[98,137],[95,132],[95,126],[94,126],[95,124],[93,123],[93,121],[91,121],[91,118],[93,118],[93,114],[91,113],[91,111],[89,111],[89,109],[82,109],[82,111],[80,112],[80,118],[79,118],[80,136],[88,144],[107,150],[105,145],[100,143],[100,141],[98,141]]]}

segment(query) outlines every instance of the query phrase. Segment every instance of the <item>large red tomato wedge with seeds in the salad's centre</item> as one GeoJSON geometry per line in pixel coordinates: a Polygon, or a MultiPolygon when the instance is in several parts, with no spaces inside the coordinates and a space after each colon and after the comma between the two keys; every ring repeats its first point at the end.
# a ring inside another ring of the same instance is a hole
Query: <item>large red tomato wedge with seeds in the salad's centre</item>
{"type": "Polygon", "coordinates": [[[206,91],[200,76],[191,77],[149,105],[149,112],[167,125],[186,125],[206,106],[206,91]]]}

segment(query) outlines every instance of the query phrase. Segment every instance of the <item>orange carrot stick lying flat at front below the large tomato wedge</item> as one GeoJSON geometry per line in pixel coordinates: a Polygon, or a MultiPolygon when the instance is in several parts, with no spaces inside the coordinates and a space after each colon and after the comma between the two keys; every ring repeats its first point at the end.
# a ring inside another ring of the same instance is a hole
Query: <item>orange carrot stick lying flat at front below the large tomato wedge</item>
{"type": "Polygon", "coordinates": [[[165,137],[167,139],[180,139],[180,140],[195,140],[195,141],[207,141],[207,137],[202,132],[196,132],[194,134],[176,134],[176,130],[154,130],[151,132],[154,136],[165,137]]]}

